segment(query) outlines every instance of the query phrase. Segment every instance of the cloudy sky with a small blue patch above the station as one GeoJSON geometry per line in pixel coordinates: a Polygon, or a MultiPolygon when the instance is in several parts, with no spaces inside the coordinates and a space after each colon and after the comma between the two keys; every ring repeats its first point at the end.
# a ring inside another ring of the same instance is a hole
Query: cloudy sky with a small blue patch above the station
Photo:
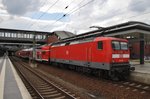
{"type": "Polygon", "coordinates": [[[128,21],[150,24],[150,0],[0,0],[0,28],[81,34],[128,21]]]}

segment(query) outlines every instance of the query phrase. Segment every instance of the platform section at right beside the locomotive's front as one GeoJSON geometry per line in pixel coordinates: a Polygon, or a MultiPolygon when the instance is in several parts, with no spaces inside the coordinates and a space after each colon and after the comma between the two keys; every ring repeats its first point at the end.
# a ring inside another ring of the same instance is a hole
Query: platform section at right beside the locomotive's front
{"type": "Polygon", "coordinates": [[[150,84],[150,62],[147,61],[143,65],[139,62],[130,62],[130,64],[135,67],[135,71],[131,73],[131,80],[150,84]]]}

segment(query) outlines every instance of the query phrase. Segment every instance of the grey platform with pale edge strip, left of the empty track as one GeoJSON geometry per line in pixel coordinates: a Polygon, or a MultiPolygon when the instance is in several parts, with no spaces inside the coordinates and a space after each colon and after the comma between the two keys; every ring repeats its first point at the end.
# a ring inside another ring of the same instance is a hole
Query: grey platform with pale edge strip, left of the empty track
{"type": "Polygon", "coordinates": [[[0,57],[0,99],[32,99],[8,56],[0,57]]]}

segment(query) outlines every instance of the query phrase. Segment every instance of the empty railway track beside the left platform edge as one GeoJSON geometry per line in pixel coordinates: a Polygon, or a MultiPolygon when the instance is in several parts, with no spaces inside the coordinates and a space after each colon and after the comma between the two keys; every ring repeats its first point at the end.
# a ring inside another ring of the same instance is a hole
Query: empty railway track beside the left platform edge
{"type": "Polygon", "coordinates": [[[79,99],[67,89],[47,80],[25,63],[11,58],[33,99],[79,99]]]}

